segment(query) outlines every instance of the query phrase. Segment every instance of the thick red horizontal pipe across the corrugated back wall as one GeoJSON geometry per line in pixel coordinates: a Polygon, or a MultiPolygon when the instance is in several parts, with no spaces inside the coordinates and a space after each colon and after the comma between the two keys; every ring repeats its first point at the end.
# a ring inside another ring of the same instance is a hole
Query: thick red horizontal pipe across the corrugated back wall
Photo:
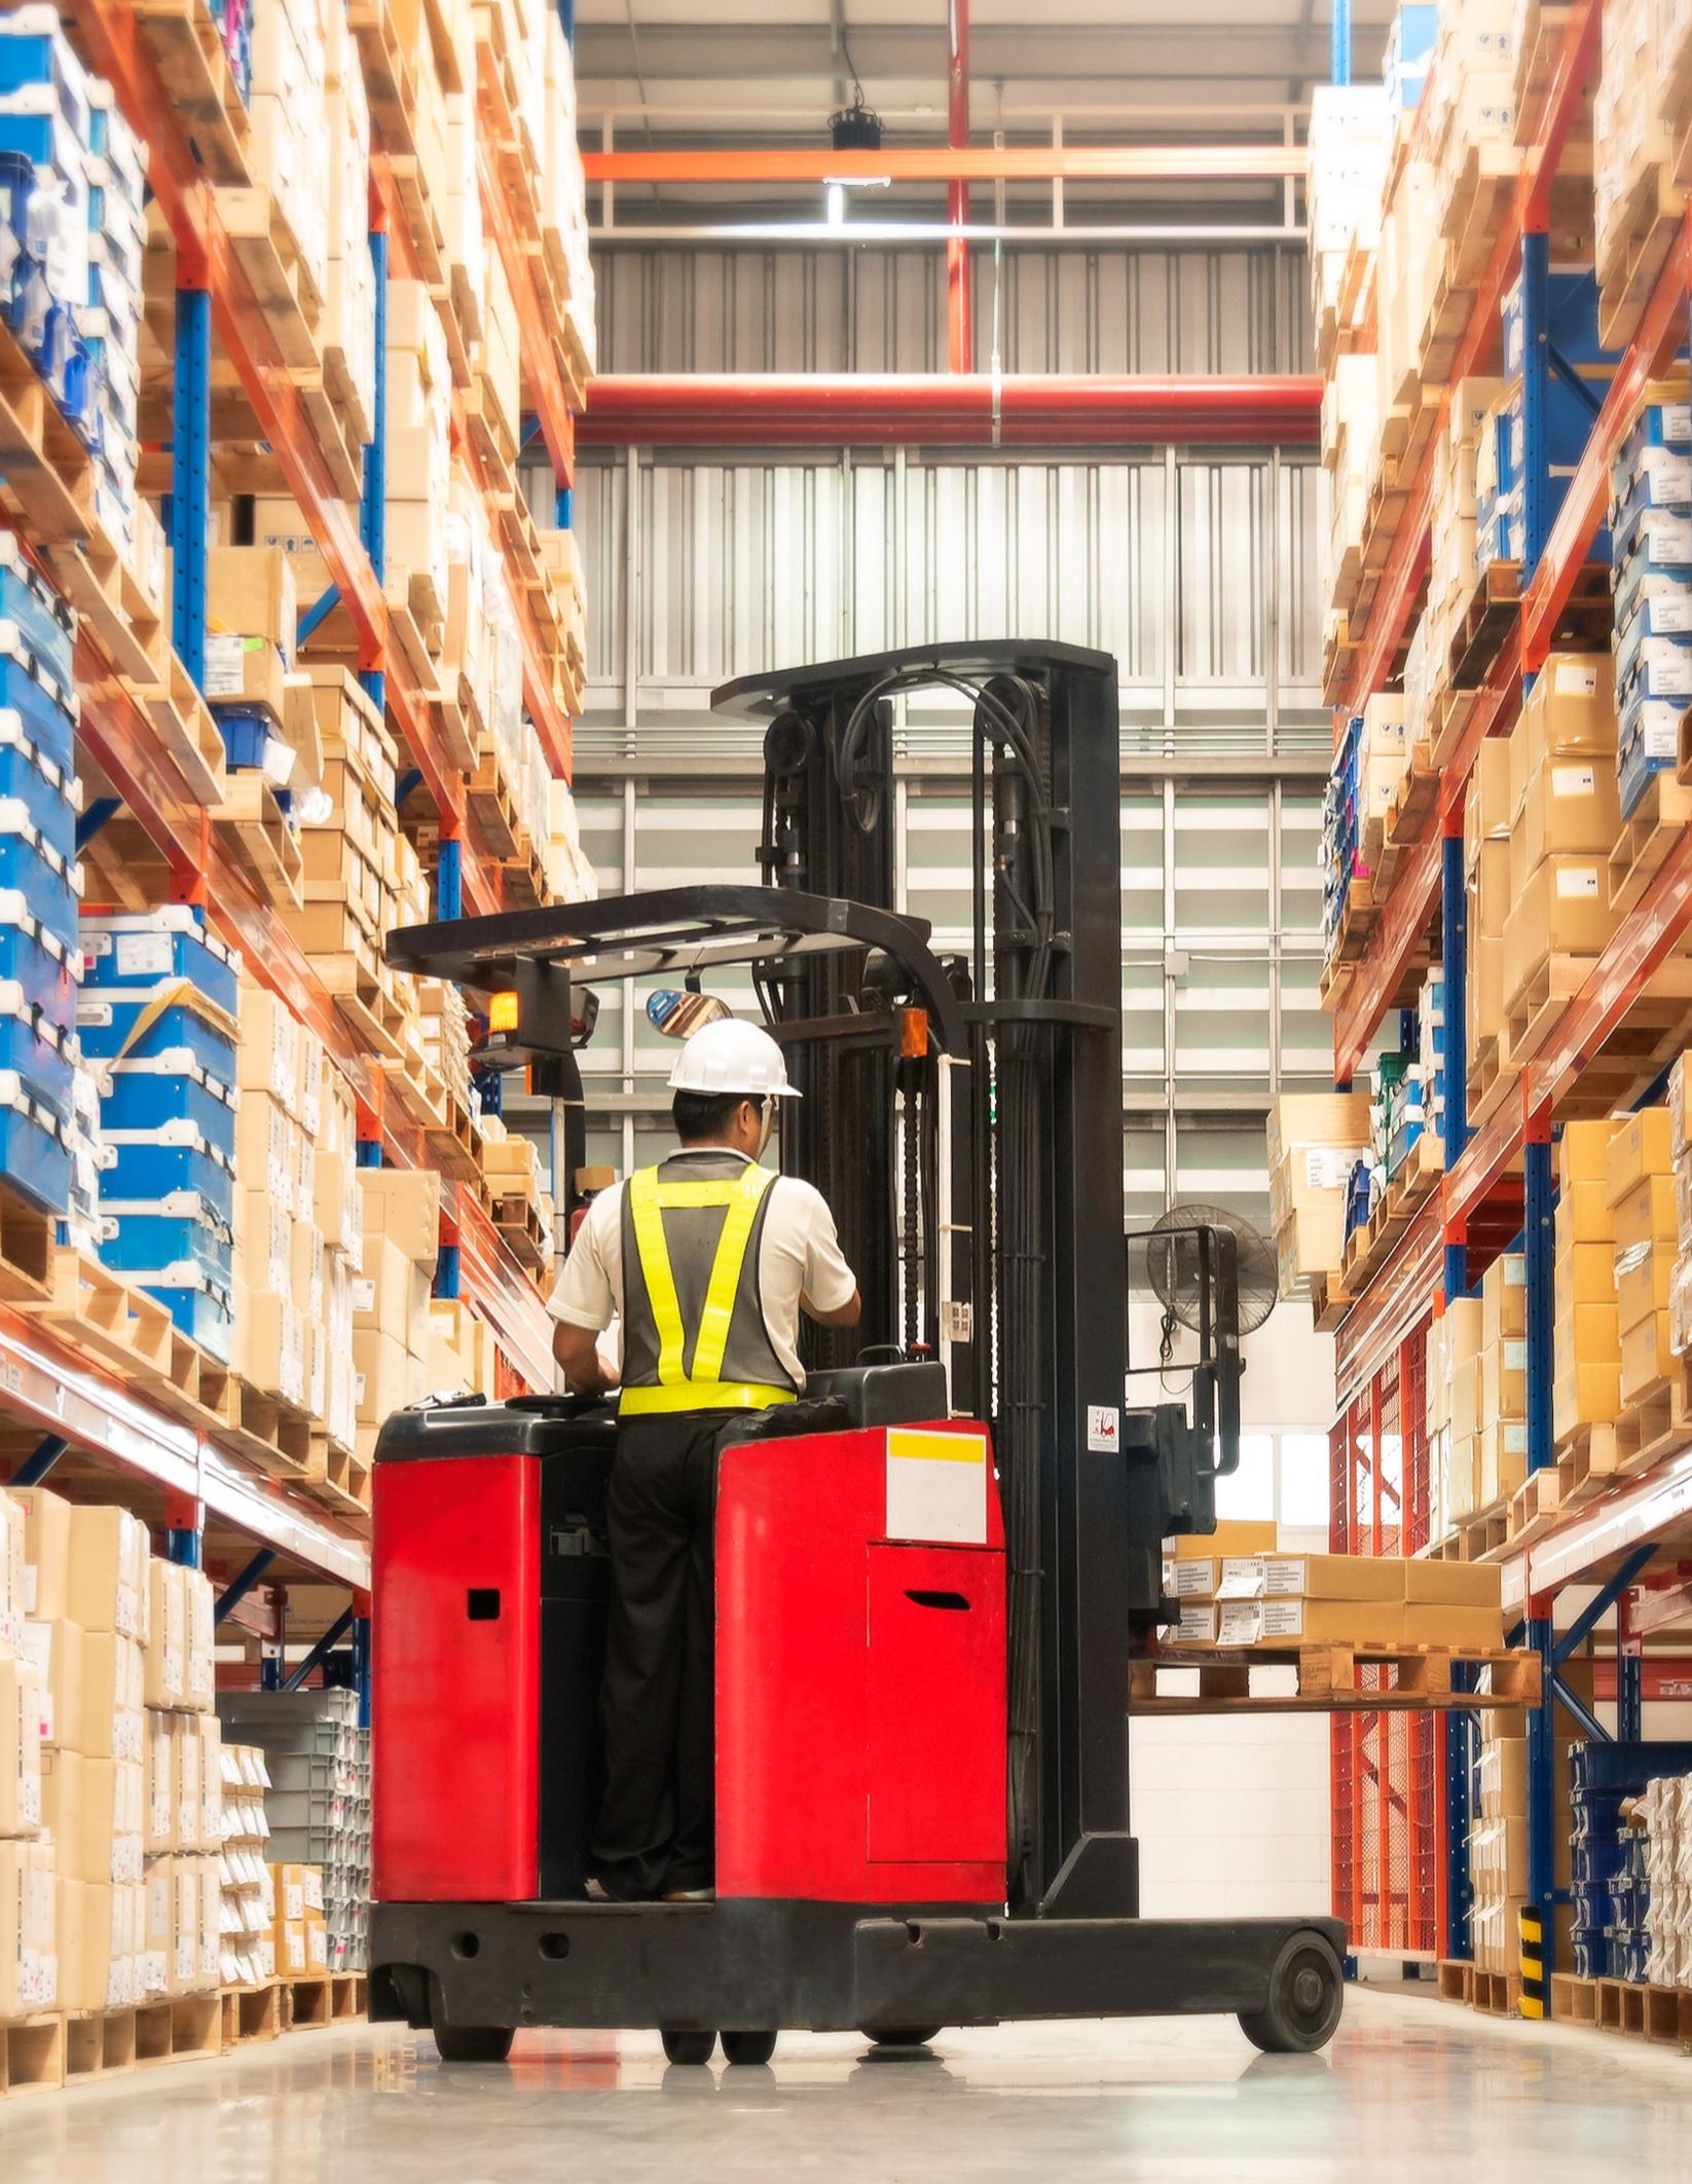
{"type": "Polygon", "coordinates": [[[600,448],[1312,446],[1321,380],[987,373],[734,373],[594,380],[576,439],[600,448]]]}

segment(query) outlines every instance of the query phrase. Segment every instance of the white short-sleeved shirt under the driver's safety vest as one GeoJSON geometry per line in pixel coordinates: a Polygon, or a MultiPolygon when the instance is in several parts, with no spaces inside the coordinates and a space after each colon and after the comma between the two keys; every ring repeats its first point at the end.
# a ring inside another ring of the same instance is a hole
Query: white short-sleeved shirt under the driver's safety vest
{"type": "MultiPolygon", "coordinates": [[[[705,1151],[705,1147],[699,1147],[705,1151]]],[[[734,1151],[727,1144],[712,1153],[734,1151]]],[[[747,1153],[736,1153],[747,1166],[747,1153]]],[[[576,1230],[570,1258],[552,1291],[552,1317],[574,1328],[607,1328],[622,1315],[622,1192],[627,1184],[600,1190],[576,1230]]],[[[758,1247],[758,1293],[764,1304],[764,1330],[771,1348],[793,1376],[806,1385],[799,1363],[799,1299],[819,1313],[838,1313],[851,1302],[858,1278],[841,1256],[834,1214],[827,1199],[797,1175],[777,1175],[768,1186],[764,1232],[758,1247]]]]}

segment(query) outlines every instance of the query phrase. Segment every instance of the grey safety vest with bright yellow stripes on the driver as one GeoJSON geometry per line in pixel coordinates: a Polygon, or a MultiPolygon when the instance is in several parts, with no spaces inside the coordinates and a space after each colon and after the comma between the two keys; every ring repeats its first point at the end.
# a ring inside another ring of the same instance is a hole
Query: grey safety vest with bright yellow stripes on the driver
{"type": "Polygon", "coordinates": [[[629,1177],[622,1417],[762,1411],[797,1393],[758,1297],[764,1195],[775,1177],[755,1162],[738,1175],[714,1173],[718,1164],[720,1155],[681,1153],[629,1177]]]}

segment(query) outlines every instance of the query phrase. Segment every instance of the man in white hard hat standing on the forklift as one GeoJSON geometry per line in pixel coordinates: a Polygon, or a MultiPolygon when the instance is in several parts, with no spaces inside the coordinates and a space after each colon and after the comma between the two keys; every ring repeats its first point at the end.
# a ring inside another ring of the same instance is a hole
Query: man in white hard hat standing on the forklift
{"type": "Polygon", "coordinates": [[[703,1024],[670,1090],[681,1151],[594,1199],[552,1295],[570,1389],[611,1389],[596,1334],[613,1315],[622,1330],[605,1802],[587,1883],[616,1902],[714,1891],[718,1437],[734,1413],[803,1389],[801,1310],[827,1328],[862,1310],[821,1192],[760,1166],[777,1105],[799,1099],[775,1040],[734,1018],[703,1024]]]}

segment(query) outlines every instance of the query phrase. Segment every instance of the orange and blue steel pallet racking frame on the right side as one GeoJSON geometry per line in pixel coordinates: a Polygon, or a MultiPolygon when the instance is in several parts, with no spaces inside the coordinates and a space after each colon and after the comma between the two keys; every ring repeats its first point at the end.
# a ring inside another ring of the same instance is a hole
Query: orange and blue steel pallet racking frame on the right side
{"type": "MultiPolygon", "coordinates": [[[[1528,1313],[1528,1483],[1535,1489],[1530,1531],[1515,1542],[1482,1548],[1502,1564],[1506,1612],[1515,1610],[1526,1642],[1539,1653],[1544,1686],[1528,1712],[1528,1896],[1544,1933],[1554,1935],[1552,1752],[1559,1708],[1587,1734],[1598,1723],[1568,1690],[1561,1669],[1589,1638],[1596,1623],[1618,1607],[1616,1704],[1618,1736],[1637,1736],[1642,1717],[1640,1638],[1646,1627],[1679,1621],[1688,1594],[1672,1581],[1637,1590],[1646,1562],[1675,1540],[1692,1535],[1692,1448],[1666,1446],[1633,1476],[1602,1487],[1578,1509],[1561,1509],[1537,1481],[1554,1476],[1550,1424],[1552,1326],[1552,1131],[1583,1075],[1607,1059],[1611,1037],[1627,1024],[1653,974],[1692,928],[1692,839],[1681,830],[1668,845],[1644,891],[1622,915],[1611,941],[1578,987],[1552,1009],[1548,1035],[1520,1070],[1515,1088],[1469,1127],[1465,1112],[1465,924],[1461,834],[1463,806],[1476,756],[1487,736],[1504,732],[1530,679],[1552,649],[1552,638],[1574,596],[1587,548],[1602,520],[1609,461],[1620,446],[1640,393],[1683,349],[1692,229],[1681,221],[1661,269],[1644,290],[1644,308],[1622,349],[1611,389],[1598,411],[1585,454],[1550,522],[1544,419],[1552,360],[1546,339],[1548,234],[1552,190],[1594,72],[1602,28],[1602,0],[1570,0],[1561,33],[1548,46],[1544,90],[1526,140],[1522,175],[1480,273],[1467,314],[1454,336],[1447,384],[1485,369],[1500,341],[1500,299],[1520,273],[1524,290],[1524,583],[1509,603],[1496,662],[1471,695],[1467,714],[1445,736],[1437,793],[1413,839],[1399,847],[1395,874],[1373,930],[1349,970],[1336,978],[1334,1081],[1349,1085],[1369,1044],[1402,994],[1434,926],[1445,972],[1445,1173],[1434,1184],[1391,1249],[1365,1280],[1332,1306],[1336,1330],[1341,1417],[1332,1437],[1332,1531],[1338,1551],[1375,1551],[1428,1544],[1428,1452],[1421,1433],[1421,1334],[1445,1297],[1471,1293],[1485,1262],[1517,1232],[1526,1249],[1528,1313]],[[1450,1026],[1456,1026],[1450,1033],[1450,1026]],[[1452,1051],[1452,1037],[1456,1051],[1452,1051]],[[1554,1601],[1565,1586],[1596,1586],[1596,1597],[1559,1636],[1554,1601]]],[[[1423,100],[1426,114],[1426,100],[1423,100]]],[[[1517,127],[1517,142],[1522,129],[1517,127]]],[[[1415,149],[1415,135],[1410,140],[1415,149]]],[[[1450,393],[1441,397],[1443,408],[1450,393]]],[[[1437,435],[1434,435],[1437,437],[1437,435]]],[[[1399,480],[1399,518],[1360,629],[1351,631],[1349,666],[1334,699],[1343,723],[1362,699],[1395,675],[1430,561],[1432,439],[1415,476],[1399,480]]],[[[1613,1055],[1616,1051],[1609,1048],[1613,1055]]],[[[1653,1090],[1657,1059],[1622,1059],[1602,1075],[1613,1105],[1635,1103],[1653,1090]]],[[[1434,1876],[1417,1900],[1432,1909],[1419,1946],[1445,1959],[1467,1957],[1465,1854],[1469,1802],[1463,1725],[1454,1719],[1439,1747],[1415,1756],[1413,1778],[1391,1778],[1384,1752],[1365,1747],[1365,1725],[1336,1723],[1336,1909],[1365,1902],[1360,1872],[1362,1804],[1378,1797],[1373,1832],[1380,1845],[1393,1835],[1391,1800],[1404,1804],[1402,1837],[1408,1865],[1434,1876]],[[1341,1811],[1349,1804],[1351,1811],[1341,1811]],[[1341,1902],[1341,1896],[1345,1898],[1341,1902]]],[[[1602,1734],[1602,1732],[1600,1732],[1602,1734]]],[[[1384,1902],[1386,1856],[1380,1859],[1375,1902],[1384,1902]]],[[[1546,1972],[1554,1966],[1548,1961],[1546,1972]]],[[[1552,2007],[1563,1992],[1552,1987],[1552,2007]]]]}

